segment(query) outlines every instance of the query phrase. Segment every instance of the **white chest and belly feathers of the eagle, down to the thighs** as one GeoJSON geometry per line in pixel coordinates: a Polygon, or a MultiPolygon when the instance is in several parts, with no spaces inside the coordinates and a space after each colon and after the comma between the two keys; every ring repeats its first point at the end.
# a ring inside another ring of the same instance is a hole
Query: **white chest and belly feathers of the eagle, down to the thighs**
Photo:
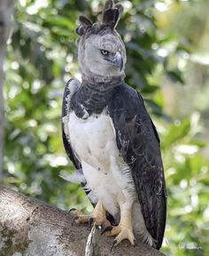
{"type": "Polygon", "coordinates": [[[91,191],[91,202],[98,200],[115,216],[121,204],[133,204],[135,187],[128,164],[117,148],[115,131],[105,111],[98,116],[80,119],[69,115],[69,139],[91,191]],[[128,202],[128,203],[127,203],[128,202]]]}

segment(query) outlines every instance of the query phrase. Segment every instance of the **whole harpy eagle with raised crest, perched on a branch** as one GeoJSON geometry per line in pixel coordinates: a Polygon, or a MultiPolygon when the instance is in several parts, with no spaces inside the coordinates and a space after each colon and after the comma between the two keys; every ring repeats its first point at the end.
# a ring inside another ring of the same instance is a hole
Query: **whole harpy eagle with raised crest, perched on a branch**
{"type": "Polygon", "coordinates": [[[166,226],[159,136],[142,96],[124,82],[126,49],[115,30],[122,12],[107,1],[101,22],[80,16],[76,29],[81,82],[66,84],[63,141],[76,169],[69,180],[81,182],[94,210],[74,216],[116,236],[113,246],[136,238],[159,249],[166,226]]]}

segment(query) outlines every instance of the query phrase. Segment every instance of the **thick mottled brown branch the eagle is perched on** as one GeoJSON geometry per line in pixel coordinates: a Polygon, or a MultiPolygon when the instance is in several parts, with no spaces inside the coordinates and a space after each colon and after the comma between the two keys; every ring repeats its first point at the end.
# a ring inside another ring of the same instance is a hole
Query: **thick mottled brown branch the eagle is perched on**
{"type": "Polygon", "coordinates": [[[137,242],[134,247],[126,241],[111,252],[112,237],[72,221],[67,212],[0,186],[1,256],[164,255],[149,245],[137,242]]]}

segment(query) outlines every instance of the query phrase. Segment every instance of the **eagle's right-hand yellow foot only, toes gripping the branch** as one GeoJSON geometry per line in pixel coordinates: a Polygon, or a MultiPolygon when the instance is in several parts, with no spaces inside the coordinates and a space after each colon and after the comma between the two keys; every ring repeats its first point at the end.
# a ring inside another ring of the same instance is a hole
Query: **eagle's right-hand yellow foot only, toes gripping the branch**
{"type": "Polygon", "coordinates": [[[107,227],[104,228],[103,233],[106,233],[107,236],[116,236],[112,248],[120,244],[121,241],[127,239],[132,245],[135,245],[135,236],[133,234],[132,228],[128,228],[123,225],[119,225],[117,227],[107,227]],[[106,231],[106,232],[105,232],[106,231]]]}

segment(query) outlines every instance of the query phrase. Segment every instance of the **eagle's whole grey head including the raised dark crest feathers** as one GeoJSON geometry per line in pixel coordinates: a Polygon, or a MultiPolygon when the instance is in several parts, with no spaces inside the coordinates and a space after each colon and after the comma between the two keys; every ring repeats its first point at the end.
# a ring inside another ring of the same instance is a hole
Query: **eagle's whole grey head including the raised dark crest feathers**
{"type": "Polygon", "coordinates": [[[106,1],[102,22],[92,24],[84,16],[79,17],[76,29],[81,36],[78,60],[82,74],[86,76],[124,76],[126,49],[120,35],[115,30],[120,15],[121,4],[106,1]]]}

